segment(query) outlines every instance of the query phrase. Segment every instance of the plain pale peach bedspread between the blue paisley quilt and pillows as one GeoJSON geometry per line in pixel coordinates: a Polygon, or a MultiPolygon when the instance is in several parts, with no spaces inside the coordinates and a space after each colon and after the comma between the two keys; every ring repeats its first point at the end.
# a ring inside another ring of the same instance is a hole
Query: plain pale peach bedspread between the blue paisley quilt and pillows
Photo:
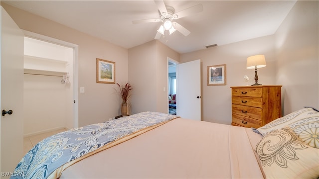
{"type": "Polygon", "coordinates": [[[244,127],[177,118],[83,159],[60,179],[262,179],[247,132],[244,127]]]}

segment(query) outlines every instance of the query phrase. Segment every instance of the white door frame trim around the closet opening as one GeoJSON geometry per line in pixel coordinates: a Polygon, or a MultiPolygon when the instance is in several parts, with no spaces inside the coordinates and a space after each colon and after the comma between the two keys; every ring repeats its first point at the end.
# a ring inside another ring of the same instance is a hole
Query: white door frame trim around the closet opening
{"type": "Polygon", "coordinates": [[[66,46],[69,48],[73,48],[74,50],[74,59],[73,59],[73,128],[79,127],[79,46],[73,43],[69,43],[63,40],[55,39],[52,37],[48,37],[45,35],[37,34],[34,32],[26,31],[21,29],[25,37],[30,37],[42,41],[46,41],[49,43],[66,46]]]}

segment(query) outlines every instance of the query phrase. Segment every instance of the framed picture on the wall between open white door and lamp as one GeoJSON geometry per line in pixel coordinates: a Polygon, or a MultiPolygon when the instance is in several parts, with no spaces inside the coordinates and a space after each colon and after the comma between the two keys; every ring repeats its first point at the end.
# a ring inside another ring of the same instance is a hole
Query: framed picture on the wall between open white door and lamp
{"type": "Polygon", "coordinates": [[[207,67],[207,85],[226,85],[226,64],[207,67]]]}

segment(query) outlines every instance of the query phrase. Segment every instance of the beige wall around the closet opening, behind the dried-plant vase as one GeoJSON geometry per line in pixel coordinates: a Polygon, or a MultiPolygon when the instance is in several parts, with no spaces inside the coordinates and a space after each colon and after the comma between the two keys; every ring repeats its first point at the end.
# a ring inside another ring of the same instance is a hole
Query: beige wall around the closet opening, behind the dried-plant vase
{"type": "Polygon", "coordinates": [[[96,83],[96,58],[115,62],[116,81],[127,82],[127,49],[7,4],[1,5],[21,29],[79,45],[79,87],[85,87],[85,93],[79,93],[79,126],[104,122],[120,114],[116,85],[96,83]]]}

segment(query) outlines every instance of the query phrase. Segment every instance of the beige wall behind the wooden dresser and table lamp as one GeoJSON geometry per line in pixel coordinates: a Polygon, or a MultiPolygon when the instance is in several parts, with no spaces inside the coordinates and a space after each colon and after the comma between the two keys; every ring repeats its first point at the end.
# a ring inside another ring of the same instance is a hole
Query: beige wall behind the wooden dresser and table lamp
{"type": "Polygon", "coordinates": [[[254,69],[246,69],[249,56],[264,54],[267,66],[258,69],[259,84],[275,83],[274,37],[266,36],[229,45],[217,46],[205,50],[185,53],[180,62],[201,60],[202,65],[202,120],[223,124],[231,123],[231,89],[233,86],[254,84],[254,69]],[[258,45],[256,45],[258,44],[258,45]],[[207,66],[226,64],[226,85],[207,86],[207,66]],[[249,77],[245,83],[244,75],[249,77]]]}

